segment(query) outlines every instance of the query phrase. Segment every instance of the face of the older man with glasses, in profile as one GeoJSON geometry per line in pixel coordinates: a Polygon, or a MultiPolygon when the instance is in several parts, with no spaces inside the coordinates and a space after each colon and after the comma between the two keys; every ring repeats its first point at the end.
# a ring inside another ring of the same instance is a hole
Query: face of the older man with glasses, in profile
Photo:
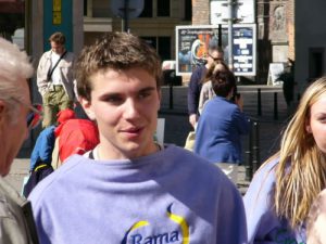
{"type": "MultiPolygon", "coordinates": [[[[22,98],[25,99],[25,104],[30,104],[29,101],[29,89],[27,81],[24,80],[22,82],[23,94],[22,98]]],[[[28,129],[26,125],[26,116],[29,112],[28,105],[24,105],[22,103],[16,104],[16,121],[13,123],[10,116],[4,112],[4,107],[8,107],[7,103],[0,101],[0,116],[3,116],[3,119],[0,119],[0,134],[1,134],[1,142],[0,147],[1,158],[0,158],[0,175],[7,176],[10,171],[10,166],[13,163],[13,159],[17,155],[24,140],[28,136],[28,129]]]]}

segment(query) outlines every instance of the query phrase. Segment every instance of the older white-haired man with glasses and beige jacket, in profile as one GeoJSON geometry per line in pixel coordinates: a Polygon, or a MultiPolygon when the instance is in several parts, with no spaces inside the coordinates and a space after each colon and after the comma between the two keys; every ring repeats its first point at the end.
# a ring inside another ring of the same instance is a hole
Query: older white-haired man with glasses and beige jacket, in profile
{"type": "Polygon", "coordinates": [[[27,79],[33,73],[26,53],[0,38],[0,243],[5,244],[38,243],[30,203],[3,179],[28,129],[40,120],[40,111],[29,99],[27,79]]]}

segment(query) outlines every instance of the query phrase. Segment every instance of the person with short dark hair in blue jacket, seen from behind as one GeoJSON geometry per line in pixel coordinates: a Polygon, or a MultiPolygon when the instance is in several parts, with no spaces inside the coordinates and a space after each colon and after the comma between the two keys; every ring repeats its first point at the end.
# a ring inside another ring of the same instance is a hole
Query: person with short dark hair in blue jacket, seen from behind
{"type": "Polygon", "coordinates": [[[241,136],[249,132],[241,98],[231,101],[236,78],[230,70],[212,75],[215,98],[206,102],[196,129],[195,153],[217,164],[236,180],[237,165],[242,163],[241,136]],[[230,164],[230,165],[229,165],[230,164]]]}

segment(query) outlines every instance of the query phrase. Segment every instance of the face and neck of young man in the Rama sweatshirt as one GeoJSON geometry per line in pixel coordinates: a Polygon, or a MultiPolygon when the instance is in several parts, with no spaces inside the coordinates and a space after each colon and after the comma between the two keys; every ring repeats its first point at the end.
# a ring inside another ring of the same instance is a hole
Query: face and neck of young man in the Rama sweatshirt
{"type": "Polygon", "coordinates": [[[82,104],[100,131],[100,159],[136,158],[156,151],[160,92],[142,68],[108,68],[90,76],[91,101],[82,104]]]}

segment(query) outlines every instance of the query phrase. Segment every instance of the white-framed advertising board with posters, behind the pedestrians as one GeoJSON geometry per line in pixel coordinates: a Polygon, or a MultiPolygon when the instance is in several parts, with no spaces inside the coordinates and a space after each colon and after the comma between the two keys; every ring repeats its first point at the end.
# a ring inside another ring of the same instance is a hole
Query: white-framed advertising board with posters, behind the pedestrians
{"type": "MultiPolygon", "coordinates": [[[[206,62],[210,46],[221,46],[228,64],[227,26],[176,26],[176,74],[191,75],[193,68],[206,62]],[[220,30],[218,30],[220,29],[220,30]],[[220,34],[221,31],[221,34],[220,34]],[[220,40],[221,38],[221,40],[220,40]]],[[[255,75],[255,25],[234,25],[235,75],[255,75]]]]}

